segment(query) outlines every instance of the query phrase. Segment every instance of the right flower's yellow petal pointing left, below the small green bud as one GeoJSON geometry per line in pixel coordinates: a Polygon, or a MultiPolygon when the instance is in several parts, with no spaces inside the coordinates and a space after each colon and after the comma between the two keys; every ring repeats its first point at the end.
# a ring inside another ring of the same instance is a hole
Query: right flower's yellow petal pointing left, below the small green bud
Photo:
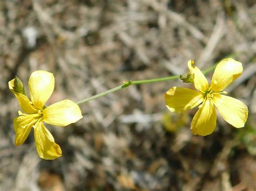
{"type": "Polygon", "coordinates": [[[204,96],[192,89],[172,87],[164,95],[166,107],[172,112],[186,111],[204,101],[204,96]]]}

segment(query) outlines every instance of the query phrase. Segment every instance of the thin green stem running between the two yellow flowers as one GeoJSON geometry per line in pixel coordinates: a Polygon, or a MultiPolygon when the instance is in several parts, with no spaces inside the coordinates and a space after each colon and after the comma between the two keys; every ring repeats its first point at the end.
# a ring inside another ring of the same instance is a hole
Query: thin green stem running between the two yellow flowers
{"type": "MultiPolygon", "coordinates": [[[[216,67],[216,64],[211,66],[210,68],[203,70],[204,74],[207,74],[209,72],[211,72],[214,68],[216,67]]],[[[167,80],[177,80],[179,79],[179,75],[174,75],[174,76],[169,76],[169,77],[160,77],[160,78],[156,78],[156,79],[149,79],[149,80],[135,80],[135,81],[125,81],[123,85],[121,86],[117,86],[115,88],[109,89],[107,91],[104,91],[103,93],[94,95],[92,97],[86,98],[84,100],[78,101],[77,104],[82,104],[82,103],[86,103],[90,100],[94,100],[98,97],[102,97],[105,96],[107,94],[113,93],[115,91],[118,91],[120,89],[124,89],[127,88],[131,85],[138,85],[138,84],[143,84],[143,83],[153,83],[153,82],[163,82],[163,81],[167,81],[167,80]]]]}

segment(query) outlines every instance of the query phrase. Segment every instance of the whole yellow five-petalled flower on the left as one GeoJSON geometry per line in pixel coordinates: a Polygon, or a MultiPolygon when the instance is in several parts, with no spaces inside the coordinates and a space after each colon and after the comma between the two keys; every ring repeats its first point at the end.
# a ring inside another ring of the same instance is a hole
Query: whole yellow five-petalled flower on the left
{"type": "Polygon", "coordinates": [[[31,74],[29,79],[31,101],[25,94],[17,90],[15,80],[9,81],[9,89],[16,96],[24,112],[19,111],[19,117],[14,119],[15,146],[24,143],[33,127],[39,157],[48,160],[60,157],[62,150],[55,143],[54,138],[45,128],[43,122],[57,126],[75,123],[83,117],[80,108],[71,100],[63,100],[49,107],[44,106],[55,85],[52,73],[38,70],[31,74]]]}

